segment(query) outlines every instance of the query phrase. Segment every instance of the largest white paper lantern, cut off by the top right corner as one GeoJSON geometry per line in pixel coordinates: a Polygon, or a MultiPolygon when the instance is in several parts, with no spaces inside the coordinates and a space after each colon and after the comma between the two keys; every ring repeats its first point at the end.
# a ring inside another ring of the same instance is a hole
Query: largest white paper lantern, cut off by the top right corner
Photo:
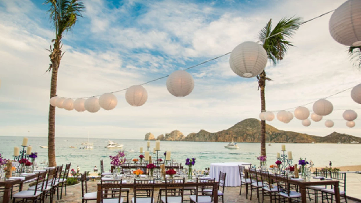
{"type": "Polygon", "coordinates": [[[347,46],[361,46],[361,1],[348,0],[337,8],[329,21],[334,40],[347,46]]]}

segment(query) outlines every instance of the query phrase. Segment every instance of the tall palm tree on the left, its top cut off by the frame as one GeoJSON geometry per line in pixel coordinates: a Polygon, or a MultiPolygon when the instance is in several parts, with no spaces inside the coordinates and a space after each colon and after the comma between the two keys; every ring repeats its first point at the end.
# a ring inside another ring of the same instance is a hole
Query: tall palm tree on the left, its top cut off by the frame
{"type": "MultiPolygon", "coordinates": [[[[56,85],[58,79],[58,69],[61,57],[61,38],[64,31],[70,31],[77,22],[77,17],[82,16],[81,12],[85,6],[82,0],[46,0],[45,4],[50,4],[49,13],[51,22],[54,23],[55,39],[53,47],[50,45],[48,51],[51,64],[47,71],[51,71],[50,98],[56,96],[56,85]]],[[[48,159],[49,166],[56,166],[55,160],[55,107],[49,104],[49,128],[48,128],[48,159]]]]}

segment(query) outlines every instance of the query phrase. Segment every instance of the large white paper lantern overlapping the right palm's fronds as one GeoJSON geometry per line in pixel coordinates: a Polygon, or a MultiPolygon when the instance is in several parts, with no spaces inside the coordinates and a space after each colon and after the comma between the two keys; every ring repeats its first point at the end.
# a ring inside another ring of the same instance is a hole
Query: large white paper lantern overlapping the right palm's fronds
{"type": "Polygon", "coordinates": [[[229,57],[229,65],[235,74],[243,78],[252,78],[265,70],[266,50],[258,43],[246,41],[235,47],[229,57]]]}

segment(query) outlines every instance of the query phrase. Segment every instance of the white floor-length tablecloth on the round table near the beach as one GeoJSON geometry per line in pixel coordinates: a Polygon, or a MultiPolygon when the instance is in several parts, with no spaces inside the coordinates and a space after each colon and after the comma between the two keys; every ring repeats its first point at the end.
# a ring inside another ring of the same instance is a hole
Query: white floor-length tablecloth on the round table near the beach
{"type": "Polygon", "coordinates": [[[239,165],[250,165],[251,163],[245,162],[227,162],[227,163],[211,163],[209,175],[211,178],[216,178],[218,181],[219,171],[227,173],[226,183],[227,187],[236,187],[241,185],[241,180],[239,177],[239,165]]]}

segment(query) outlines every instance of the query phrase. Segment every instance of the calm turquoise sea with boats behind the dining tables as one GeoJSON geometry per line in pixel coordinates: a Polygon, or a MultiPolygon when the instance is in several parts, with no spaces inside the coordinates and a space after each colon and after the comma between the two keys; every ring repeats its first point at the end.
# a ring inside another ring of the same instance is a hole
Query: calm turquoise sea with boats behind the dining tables
{"type": "MultiPolygon", "coordinates": [[[[0,153],[5,158],[13,159],[14,146],[20,147],[22,137],[0,137],[0,153]]],[[[116,155],[116,149],[106,149],[108,139],[90,139],[94,143],[93,150],[79,149],[81,143],[86,138],[56,138],[56,162],[64,164],[71,162],[71,168],[77,165],[81,171],[92,171],[96,165],[100,170],[100,159],[104,159],[105,169],[110,168],[110,155],[116,155]],[[75,146],[76,149],[70,149],[75,146]]],[[[147,149],[147,141],[143,140],[112,140],[123,144],[126,158],[137,158],[139,148],[147,149]],[[129,149],[136,152],[128,152],[129,149]]],[[[47,160],[47,150],[41,149],[39,145],[47,146],[46,137],[29,137],[29,145],[33,146],[32,151],[38,152],[38,162],[47,160]]],[[[164,159],[164,151],[171,151],[171,158],[176,162],[185,163],[186,158],[196,158],[196,169],[209,167],[210,163],[217,162],[249,162],[259,165],[256,157],[260,155],[259,143],[238,143],[238,150],[225,149],[225,142],[176,142],[161,141],[161,151],[159,157],[164,159]]],[[[272,143],[272,146],[266,146],[268,155],[267,164],[273,164],[276,160],[276,153],[281,153],[281,143],[272,143]]],[[[361,165],[361,145],[359,144],[285,144],[287,151],[292,151],[293,159],[307,158],[312,159],[316,167],[328,166],[332,161],[332,166],[352,166],[361,165]]],[[[155,141],[151,141],[150,149],[155,147],[155,141]]],[[[151,150],[152,151],[152,150],[151,150]]],[[[152,157],[156,155],[151,153],[152,157]]],[[[295,162],[295,161],[294,161],[295,162]]]]}

